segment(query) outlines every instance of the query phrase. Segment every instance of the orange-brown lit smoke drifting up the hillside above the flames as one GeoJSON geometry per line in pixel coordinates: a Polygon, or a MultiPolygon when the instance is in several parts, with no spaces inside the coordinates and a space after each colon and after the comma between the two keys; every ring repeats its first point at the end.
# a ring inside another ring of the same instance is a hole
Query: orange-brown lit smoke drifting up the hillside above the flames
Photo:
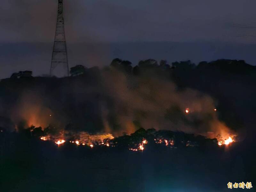
{"type": "Polygon", "coordinates": [[[210,138],[230,132],[218,120],[213,98],[178,88],[165,72],[134,75],[115,67],[90,68],[83,76],[9,79],[1,84],[1,116],[11,119],[16,129],[49,126],[119,136],[143,127],[210,138]]]}

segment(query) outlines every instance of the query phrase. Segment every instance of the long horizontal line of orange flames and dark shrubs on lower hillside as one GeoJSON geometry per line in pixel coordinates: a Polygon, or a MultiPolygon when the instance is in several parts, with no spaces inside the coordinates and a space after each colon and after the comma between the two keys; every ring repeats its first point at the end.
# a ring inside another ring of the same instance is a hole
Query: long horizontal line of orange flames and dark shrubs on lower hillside
{"type": "Polygon", "coordinates": [[[172,132],[172,131],[156,131],[155,129],[140,129],[131,135],[125,135],[114,138],[110,133],[106,134],[89,134],[87,132],[79,132],[76,135],[70,136],[68,133],[61,133],[61,137],[57,139],[51,135],[41,136],[42,141],[53,140],[56,145],[61,146],[68,141],[70,144],[76,146],[88,146],[90,148],[105,146],[105,147],[120,147],[125,146],[124,143],[128,143],[126,146],[131,151],[143,151],[146,148],[148,142],[160,144],[169,148],[179,147],[198,147],[204,145],[207,141],[218,146],[228,146],[235,142],[236,135],[230,135],[228,138],[223,139],[217,136],[215,139],[207,139],[204,136],[195,136],[193,134],[187,134],[184,132],[172,132]],[[66,135],[66,136],[65,136],[66,135]],[[151,139],[152,136],[154,139],[151,139]],[[72,139],[73,138],[73,139],[72,139]],[[76,138],[76,139],[74,139],[76,138]],[[147,139],[149,138],[149,139],[147,139]]]}

